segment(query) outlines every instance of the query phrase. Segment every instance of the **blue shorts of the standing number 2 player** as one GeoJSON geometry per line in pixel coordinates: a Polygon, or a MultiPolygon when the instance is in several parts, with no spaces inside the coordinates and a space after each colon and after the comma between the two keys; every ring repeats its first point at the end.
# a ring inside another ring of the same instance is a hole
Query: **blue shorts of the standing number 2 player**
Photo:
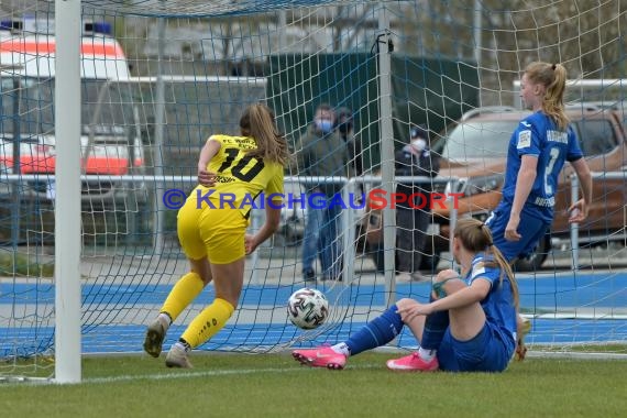
{"type": "Polygon", "coordinates": [[[494,245],[501,251],[507,262],[512,262],[515,258],[525,258],[532,254],[550,227],[550,223],[524,209],[518,226],[518,233],[521,235],[520,240],[507,241],[505,239],[505,228],[507,228],[507,222],[509,222],[510,210],[512,207],[509,205],[499,205],[485,221],[485,224],[492,232],[494,245]]]}

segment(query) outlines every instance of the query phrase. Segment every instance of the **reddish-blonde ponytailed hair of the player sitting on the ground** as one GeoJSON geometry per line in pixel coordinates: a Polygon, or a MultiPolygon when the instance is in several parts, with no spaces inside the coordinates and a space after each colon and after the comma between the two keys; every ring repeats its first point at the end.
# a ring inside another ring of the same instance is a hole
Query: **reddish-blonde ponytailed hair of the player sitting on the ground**
{"type": "Polygon", "coordinates": [[[455,231],[453,237],[461,240],[462,245],[473,252],[485,252],[486,254],[492,253],[494,261],[485,262],[484,264],[488,267],[498,267],[501,270],[499,285],[503,285],[503,277],[507,275],[509,284],[512,286],[512,296],[514,297],[514,306],[518,309],[518,283],[514,277],[514,272],[512,266],[501,251],[494,246],[494,241],[492,240],[492,232],[483,222],[469,218],[461,219],[455,226],[455,231]]]}

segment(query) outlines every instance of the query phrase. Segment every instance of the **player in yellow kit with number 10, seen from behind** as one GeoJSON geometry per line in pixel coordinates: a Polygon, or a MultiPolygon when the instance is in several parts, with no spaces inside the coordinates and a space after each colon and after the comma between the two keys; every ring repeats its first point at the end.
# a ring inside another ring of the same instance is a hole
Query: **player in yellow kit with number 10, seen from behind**
{"type": "Polygon", "coordinates": [[[172,345],[165,361],[168,367],[191,367],[191,349],[224,327],[242,292],[245,254],[278,228],[287,143],[265,105],[248,107],[240,129],[241,136],[207,140],[198,160],[199,185],[178,212],[178,239],[190,272],[176,283],[147,327],[144,350],[160,356],[170,323],[211,280],[216,298],[172,345]],[[254,235],[246,235],[253,199],[262,193],[267,201],[257,199],[256,205],[265,207],[266,221],[254,235]]]}

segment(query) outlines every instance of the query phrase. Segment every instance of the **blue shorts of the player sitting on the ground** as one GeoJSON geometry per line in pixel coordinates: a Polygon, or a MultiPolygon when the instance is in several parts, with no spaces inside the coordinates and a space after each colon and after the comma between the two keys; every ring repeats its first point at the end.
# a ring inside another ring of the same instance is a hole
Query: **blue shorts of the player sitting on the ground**
{"type": "Polygon", "coordinates": [[[485,322],[476,337],[459,341],[444,332],[438,349],[440,369],[447,372],[503,372],[514,355],[514,340],[504,337],[490,322],[485,322]]]}

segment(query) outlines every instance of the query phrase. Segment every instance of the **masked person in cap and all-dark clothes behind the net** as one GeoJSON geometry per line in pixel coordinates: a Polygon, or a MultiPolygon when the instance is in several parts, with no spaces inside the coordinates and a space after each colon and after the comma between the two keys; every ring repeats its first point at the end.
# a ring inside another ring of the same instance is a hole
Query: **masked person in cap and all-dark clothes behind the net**
{"type": "MultiPolygon", "coordinates": [[[[440,160],[429,150],[429,132],[422,127],[411,127],[409,144],[398,150],[395,155],[395,175],[433,178],[440,170],[440,160]]],[[[396,207],[396,260],[397,273],[409,274],[411,280],[426,280],[420,272],[422,253],[425,252],[426,231],[430,220],[431,183],[400,183],[396,193],[410,196],[419,194],[409,202],[400,202],[396,207]]]]}

